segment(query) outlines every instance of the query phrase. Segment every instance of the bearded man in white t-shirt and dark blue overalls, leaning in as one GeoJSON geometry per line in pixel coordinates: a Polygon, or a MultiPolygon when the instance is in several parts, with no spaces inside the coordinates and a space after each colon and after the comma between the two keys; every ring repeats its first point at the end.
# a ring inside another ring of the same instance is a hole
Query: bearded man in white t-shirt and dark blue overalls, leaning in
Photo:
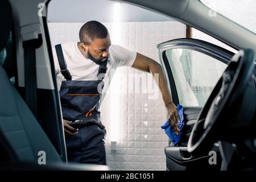
{"type": "Polygon", "coordinates": [[[167,117],[175,133],[179,133],[179,116],[160,64],[140,53],[112,45],[107,28],[97,21],[85,23],[80,28],[79,39],[80,42],[57,44],[53,51],[69,162],[106,164],[106,130],[100,121],[99,107],[108,84],[102,86],[105,89],[102,93],[98,86],[102,81],[110,82],[110,70],[118,67],[159,74],[167,117]],[[86,121],[86,125],[77,130],[71,126],[76,121],[86,121]]]}

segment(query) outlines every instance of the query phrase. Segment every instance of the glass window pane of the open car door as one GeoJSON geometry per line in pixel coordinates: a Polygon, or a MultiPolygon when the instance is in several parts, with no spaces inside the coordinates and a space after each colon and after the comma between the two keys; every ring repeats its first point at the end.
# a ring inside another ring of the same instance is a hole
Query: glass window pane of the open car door
{"type": "Polygon", "coordinates": [[[170,64],[179,102],[203,107],[226,64],[204,53],[185,48],[164,52],[170,64]]]}

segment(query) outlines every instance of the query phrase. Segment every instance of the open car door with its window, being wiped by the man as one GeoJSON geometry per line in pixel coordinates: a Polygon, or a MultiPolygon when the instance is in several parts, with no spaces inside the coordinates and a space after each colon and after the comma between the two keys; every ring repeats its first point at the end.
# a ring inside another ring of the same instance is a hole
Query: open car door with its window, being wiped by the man
{"type": "Polygon", "coordinates": [[[167,170],[187,170],[210,167],[209,155],[191,156],[187,143],[194,123],[204,107],[209,94],[229,63],[233,52],[197,39],[175,39],[158,45],[159,59],[175,105],[184,106],[183,133],[178,146],[165,148],[167,170]]]}

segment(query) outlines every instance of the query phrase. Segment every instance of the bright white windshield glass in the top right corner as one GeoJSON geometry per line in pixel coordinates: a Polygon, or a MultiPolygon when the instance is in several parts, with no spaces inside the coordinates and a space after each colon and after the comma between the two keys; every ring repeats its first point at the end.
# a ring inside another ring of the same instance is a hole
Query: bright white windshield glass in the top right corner
{"type": "MultiPolygon", "coordinates": [[[[256,34],[255,0],[200,0],[211,10],[256,34]]],[[[214,13],[214,12],[213,12],[214,13]]]]}

